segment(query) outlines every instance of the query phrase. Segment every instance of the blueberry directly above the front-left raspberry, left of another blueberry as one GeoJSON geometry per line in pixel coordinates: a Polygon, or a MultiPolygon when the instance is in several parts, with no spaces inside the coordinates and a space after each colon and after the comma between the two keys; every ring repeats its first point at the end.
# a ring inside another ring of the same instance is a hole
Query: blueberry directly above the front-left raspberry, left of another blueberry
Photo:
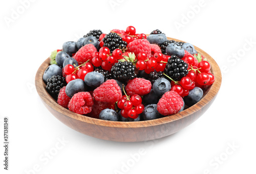
{"type": "Polygon", "coordinates": [[[87,86],[86,83],[84,83],[83,80],[81,79],[75,79],[72,80],[68,83],[68,85],[66,86],[66,94],[72,98],[72,96],[77,93],[77,92],[82,92],[82,91],[86,91],[87,90],[87,86]]]}

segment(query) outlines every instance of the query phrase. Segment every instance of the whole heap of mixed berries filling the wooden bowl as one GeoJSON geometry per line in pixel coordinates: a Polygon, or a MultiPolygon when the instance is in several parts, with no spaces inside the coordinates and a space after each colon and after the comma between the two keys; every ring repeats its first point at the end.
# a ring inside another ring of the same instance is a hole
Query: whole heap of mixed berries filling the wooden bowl
{"type": "Polygon", "coordinates": [[[42,77],[57,103],[78,114],[141,121],[195,105],[215,82],[210,63],[190,43],[133,26],[92,30],[50,56],[42,77]]]}

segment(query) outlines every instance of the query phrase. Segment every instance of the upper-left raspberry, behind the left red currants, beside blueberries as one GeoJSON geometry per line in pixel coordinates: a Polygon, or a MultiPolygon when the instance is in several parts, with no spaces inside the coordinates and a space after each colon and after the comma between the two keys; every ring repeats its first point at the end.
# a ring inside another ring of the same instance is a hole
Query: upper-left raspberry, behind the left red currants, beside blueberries
{"type": "Polygon", "coordinates": [[[92,63],[93,53],[97,52],[97,48],[93,44],[87,44],[82,46],[78,52],[76,52],[74,59],[79,63],[84,63],[90,59],[92,63]]]}

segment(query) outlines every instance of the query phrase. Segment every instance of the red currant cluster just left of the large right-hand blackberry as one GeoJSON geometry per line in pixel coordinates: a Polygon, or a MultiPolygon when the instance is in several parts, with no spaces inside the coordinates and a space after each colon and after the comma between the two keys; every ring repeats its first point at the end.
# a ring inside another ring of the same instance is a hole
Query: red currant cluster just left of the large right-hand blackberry
{"type": "Polygon", "coordinates": [[[163,55],[162,53],[155,53],[151,58],[147,58],[145,53],[138,54],[138,62],[136,67],[139,70],[145,70],[146,73],[156,71],[163,71],[170,56],[163,55]]]}

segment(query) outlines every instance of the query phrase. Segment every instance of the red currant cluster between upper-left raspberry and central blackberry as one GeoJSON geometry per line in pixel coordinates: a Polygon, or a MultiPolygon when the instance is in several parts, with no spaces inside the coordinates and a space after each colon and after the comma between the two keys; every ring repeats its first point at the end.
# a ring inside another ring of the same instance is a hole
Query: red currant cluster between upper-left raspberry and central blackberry
{"type": "Polygon", "coordinates": [[[121,59],[121,49],[115,49],[113,53],[110,53],[110,49],[103,46],[99,49],[99,52],[93,53],[92,63],[94,66],[101,66],[104,70],[110,70],[111,67],[121,59]]]}

